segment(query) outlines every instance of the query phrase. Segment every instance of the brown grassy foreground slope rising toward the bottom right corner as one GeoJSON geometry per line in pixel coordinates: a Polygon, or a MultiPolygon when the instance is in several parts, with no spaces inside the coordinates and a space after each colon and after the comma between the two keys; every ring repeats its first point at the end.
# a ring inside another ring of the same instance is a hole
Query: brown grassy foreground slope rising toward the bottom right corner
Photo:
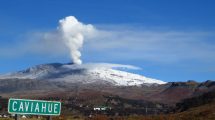
{"type": "Polygon", "coordinates": [[[155,115],[155,116],[128,116],[128,117],[107,117],[98,115],[91,120],[215,120],[215,103],[191,108],[185,112],[155,115]]]}

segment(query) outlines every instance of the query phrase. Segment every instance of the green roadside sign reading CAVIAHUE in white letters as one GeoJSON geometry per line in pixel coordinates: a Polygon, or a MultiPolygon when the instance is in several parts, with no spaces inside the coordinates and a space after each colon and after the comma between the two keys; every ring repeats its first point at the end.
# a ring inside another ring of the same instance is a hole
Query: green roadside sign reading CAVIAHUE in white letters
{"type": "Polygon", "coordinates": [[[8,113],[10,114],[30,114],[30,115],[60,115],[61,102],[9,99],[8,113]]]}

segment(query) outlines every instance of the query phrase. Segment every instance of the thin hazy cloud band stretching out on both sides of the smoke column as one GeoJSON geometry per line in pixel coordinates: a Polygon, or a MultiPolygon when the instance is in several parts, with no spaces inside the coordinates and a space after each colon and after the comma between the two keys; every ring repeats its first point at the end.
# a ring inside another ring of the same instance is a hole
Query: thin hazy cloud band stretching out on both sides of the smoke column
{"type": "MultiPolygon", "coordinates": [[[[211,42],[214,38],[214,32],[100,26],[92,37],[86,39],[82,52],[83,57],[92,58],[92,62],[139,60],[177,63],[198,60],[210,63],[215,60],[215,43],[211,42]]],[[[0,48],[0,57],[28,54],[63,57],[68,56],[69,50],[55,30],[31,33],[22,42],[0,48]]]]}

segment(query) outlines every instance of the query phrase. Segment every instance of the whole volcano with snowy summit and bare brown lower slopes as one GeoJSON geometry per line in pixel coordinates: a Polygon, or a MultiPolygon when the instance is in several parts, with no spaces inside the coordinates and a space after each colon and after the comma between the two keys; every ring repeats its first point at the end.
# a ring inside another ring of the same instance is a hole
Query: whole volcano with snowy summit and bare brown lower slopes
{"type": "Polygon", "coordinates": [[[79,97],[83,100],[120,96],[126,99],[175,104],[214,90],[214,81],[164,82],[128,72],[130,65],[109,63],[50,63],[0,75],[4,97],[79,97]]]}

